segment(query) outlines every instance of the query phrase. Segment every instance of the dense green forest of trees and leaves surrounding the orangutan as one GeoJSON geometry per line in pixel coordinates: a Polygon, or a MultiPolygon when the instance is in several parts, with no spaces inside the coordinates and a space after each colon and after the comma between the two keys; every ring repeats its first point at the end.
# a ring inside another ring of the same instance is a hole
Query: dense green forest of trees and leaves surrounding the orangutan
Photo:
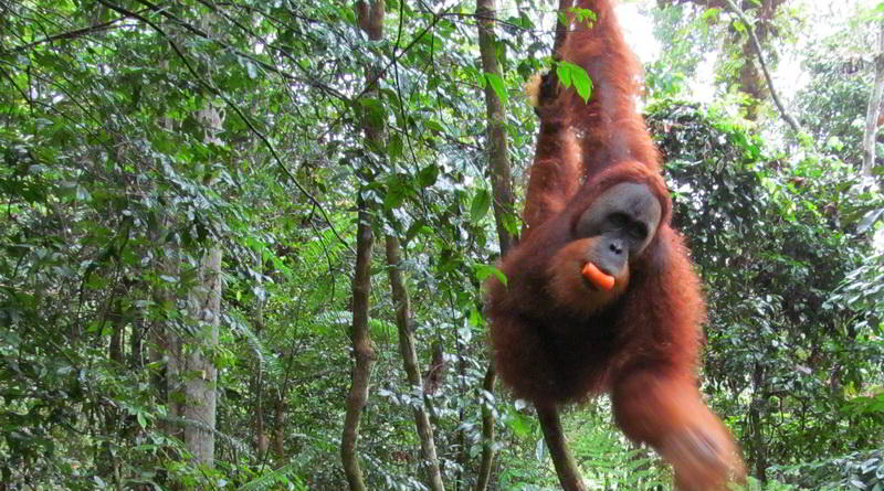
{"type": "MultiPolygon", "coordinates": [[[[884,3],[825,3],[621,9],[751,489],[884,490],[884,3]]],[[[557,489],[481,290],[556,8],[0,0],[0,490],[557,489]]]]}

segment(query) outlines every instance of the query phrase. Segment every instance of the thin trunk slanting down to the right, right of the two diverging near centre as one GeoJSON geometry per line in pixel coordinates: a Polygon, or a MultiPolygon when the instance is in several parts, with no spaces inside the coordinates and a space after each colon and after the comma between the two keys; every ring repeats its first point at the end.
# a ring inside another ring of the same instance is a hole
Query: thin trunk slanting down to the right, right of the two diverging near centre
{"type": "MultiPolygon", "coordinates": [[[[414,334],[411,332],[411,306],[402,279],[400,265],[402,264],[402,253],[399,239],[388,235],[386,239],[387,266],[390,277],[390,288],[393,293],[393,305],[396,306],[396,325],[399,331],[399,352],[402,354],[402,363],[406,367],[408,384],[413,394],[422,394],[421,373],[418,369],[418,353],[414,350],[414,334]]],[[[422,401],[425,401],[422,397],[422,401]]],[[[429,403],[424,403],[429,404],[429,403]]],[[[427,484],[432,491],[445,491],[442,484],[442,473],[439,470],[439,459],[435,453],[435,440],[433,439],[433,427],[427,416],[424,406],[414,407],[414,424],[418,427],[418,435],[421,440],[421,453],[424,466],[427,467],[427,484]]]]}

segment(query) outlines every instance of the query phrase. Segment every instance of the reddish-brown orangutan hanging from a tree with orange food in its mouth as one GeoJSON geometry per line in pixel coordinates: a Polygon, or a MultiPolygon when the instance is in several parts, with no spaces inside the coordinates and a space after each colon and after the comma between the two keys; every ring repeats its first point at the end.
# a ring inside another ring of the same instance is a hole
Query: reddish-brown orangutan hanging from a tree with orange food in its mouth
{"type": "Polygon", "coordinates": [[[704,303],[635,108],[639,66],[611,1],[577,3],[596,20],[558,56],[593,89],[585,103],[555,73],[533,89],[527,228],[502,261],[507,284],[487,285],[494,363],[538,410],[609,393],[618,426],[673,465],[678,489],[724,490],[744,466],[697,388],[704,303]]]}

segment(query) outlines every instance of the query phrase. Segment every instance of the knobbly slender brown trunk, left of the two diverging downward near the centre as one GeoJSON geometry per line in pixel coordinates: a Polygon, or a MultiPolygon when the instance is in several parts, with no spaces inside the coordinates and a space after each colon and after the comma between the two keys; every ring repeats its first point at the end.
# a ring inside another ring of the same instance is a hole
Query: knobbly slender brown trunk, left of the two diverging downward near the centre
{"type": "Polygon", "coordinates": [[[359,199],[359,227],[356,235],[356,274],[352,279],[352,386],[347,396],[347,413],[344,418],[344,436],[340,440],[340,459],[344,474],[351,491],[366,491],[362,469],[356,455],[359,438],[359,418],[368,401],[368,384],[371,365],[375,364],[375,348],[368,333],[368,299],[371,292],[371,248],[375,237],[369,224],[366,204],[359,199]]]}

